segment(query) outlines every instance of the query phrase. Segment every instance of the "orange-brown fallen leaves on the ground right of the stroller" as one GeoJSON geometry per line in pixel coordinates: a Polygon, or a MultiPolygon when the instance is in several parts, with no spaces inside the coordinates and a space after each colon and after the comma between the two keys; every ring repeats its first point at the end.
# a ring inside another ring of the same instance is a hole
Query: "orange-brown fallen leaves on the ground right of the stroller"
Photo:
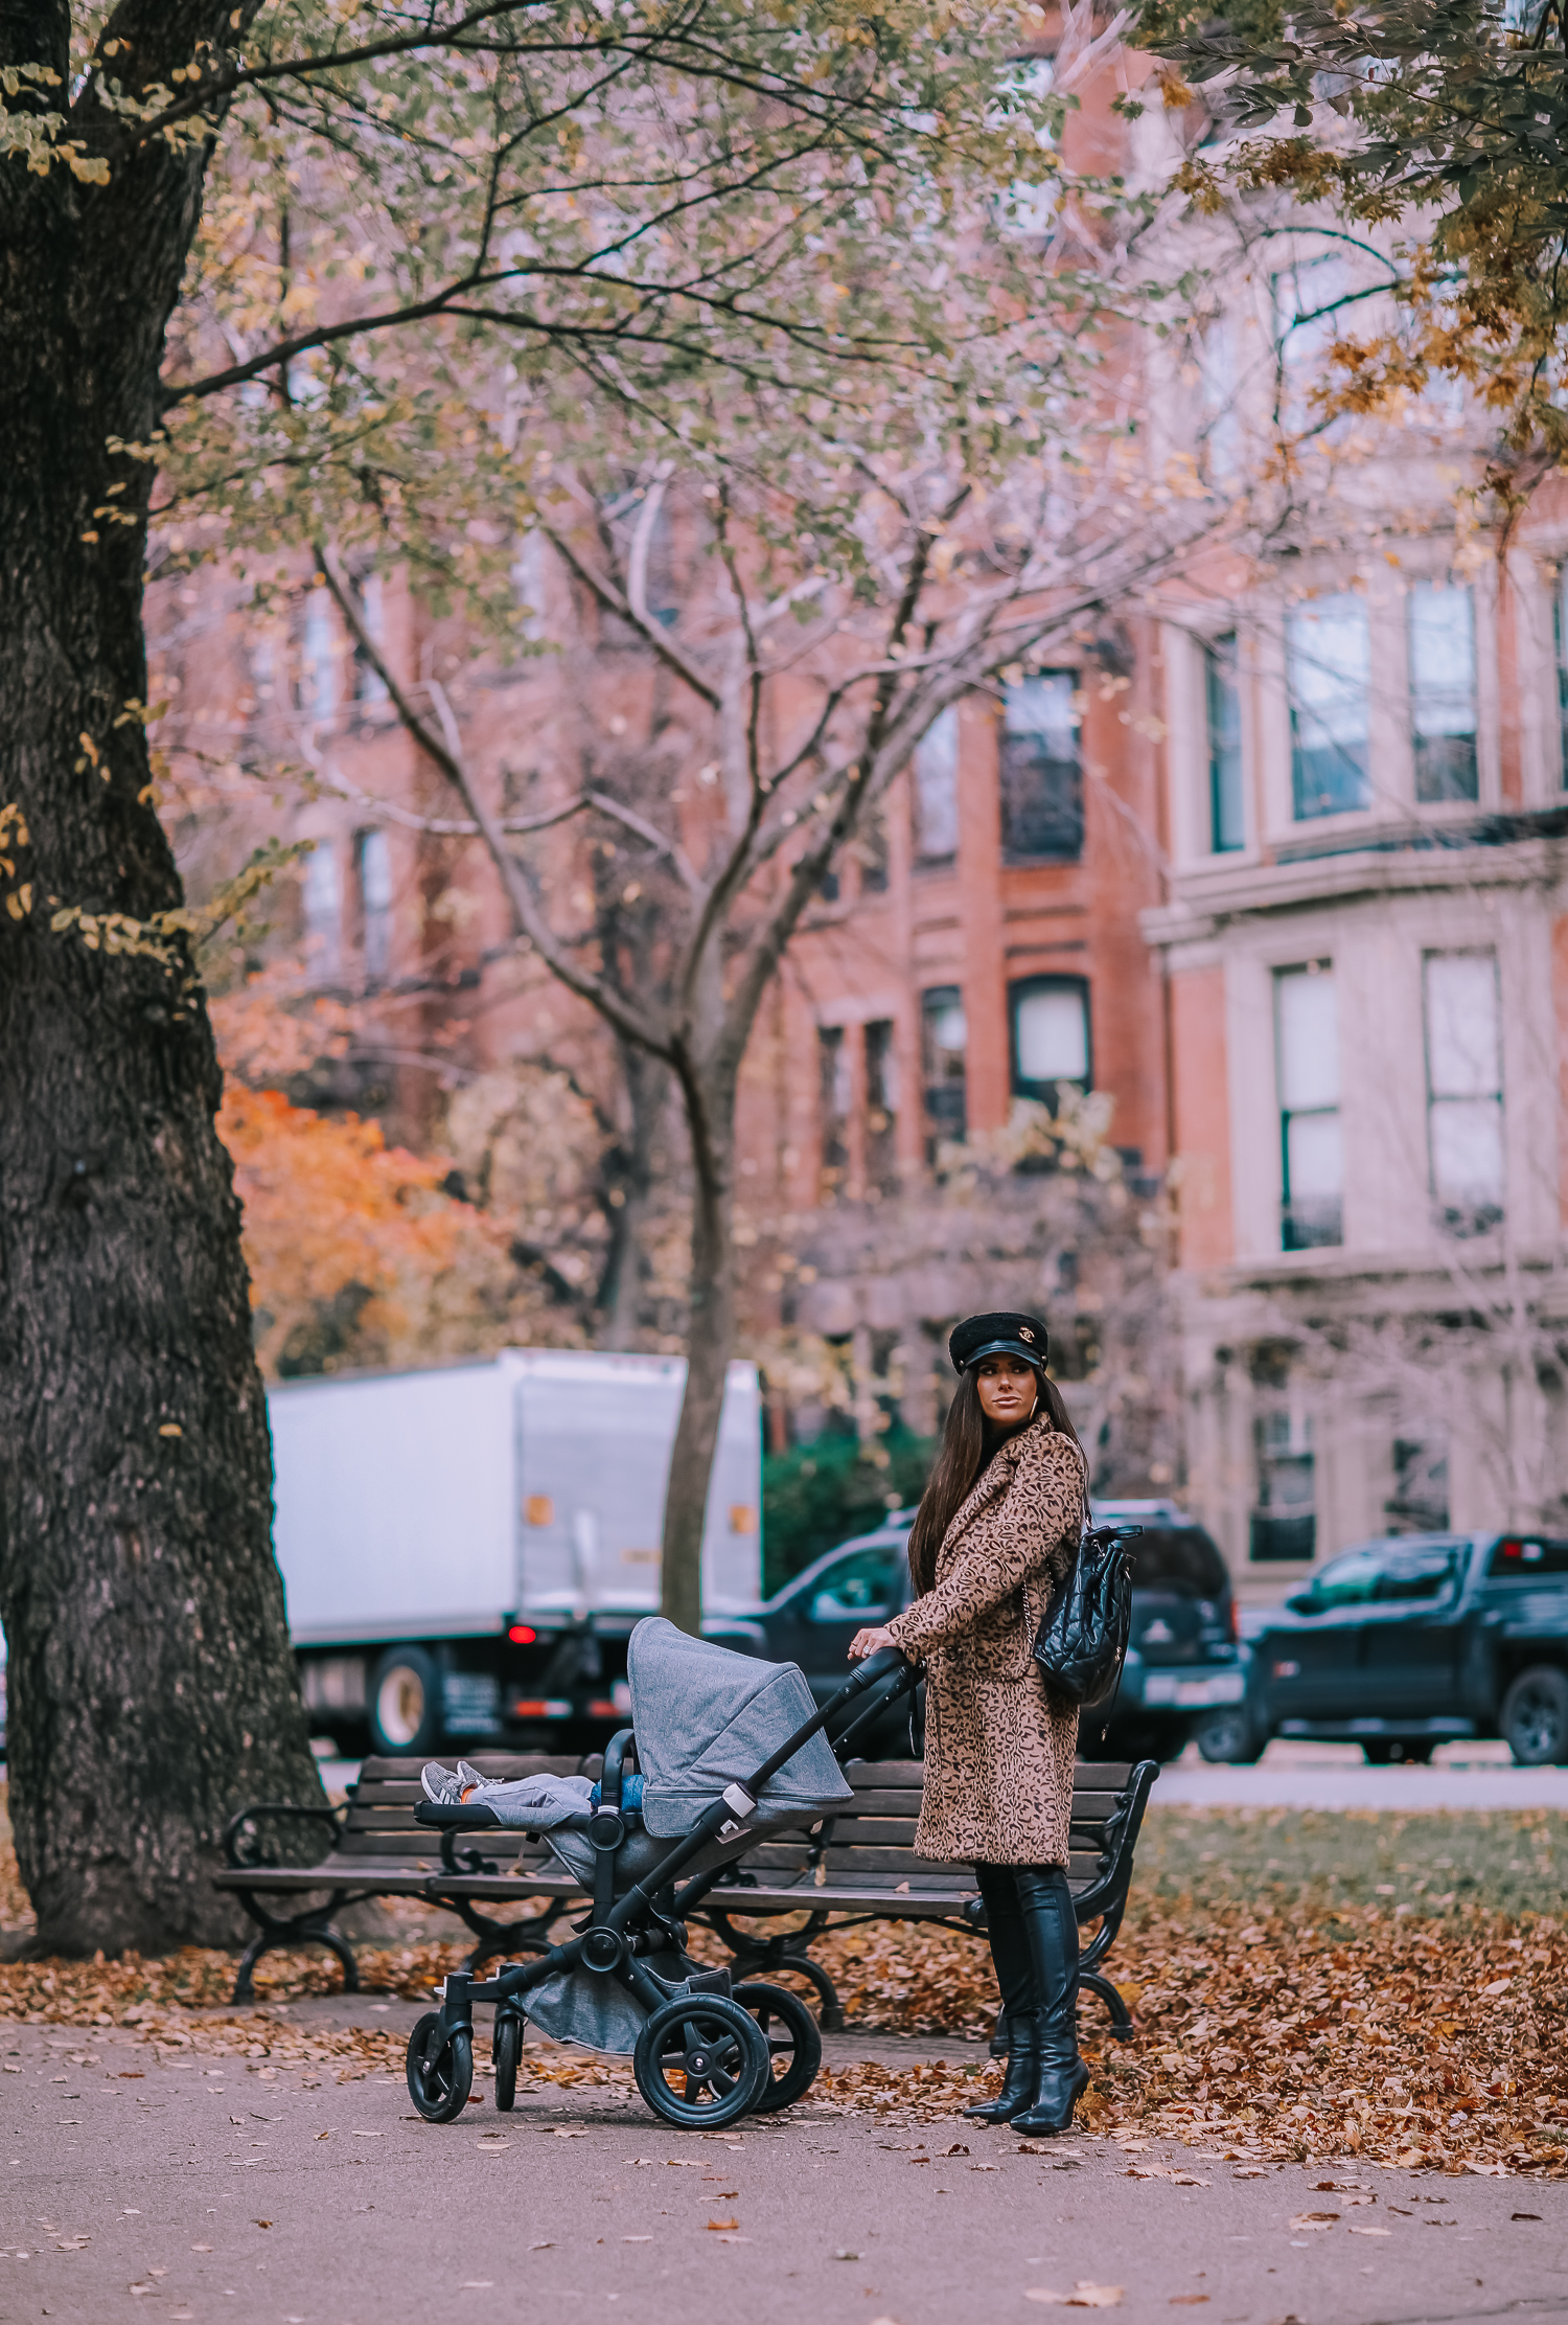
{"type": "MultiPolygon", "coordinates": [[[[1524,1823],[1496,1816],[1501,1839],[1524,1823]]],[[[1210,1839],[1227,1830],[1210,1816],[1210,1839]]],[[[1092,2069],[1080,2130],[1229,2144],[1254,2169],[1310,2158],[1568,2176],[1568,1923],[1480,1909],[1266,1913],[1252,1900],[1210,1902],[1194,1927],[1187,1900],[1141,1911],[1143,1925],[1117,1937],[1138,1969],[1136,2039],[1110,2041],[1087,1997],[1080,2013],[1092,2069]]],[[[957,1932],[871,1925],[818,1939],[813,1955],[862,2025],[978,2034],[994,2020],[990,1958],[957,1932]]],[[[990,2065],[859,2062],[818,2076],[813,2097],[934,2123],[994,2088],[990,2065]]]]}

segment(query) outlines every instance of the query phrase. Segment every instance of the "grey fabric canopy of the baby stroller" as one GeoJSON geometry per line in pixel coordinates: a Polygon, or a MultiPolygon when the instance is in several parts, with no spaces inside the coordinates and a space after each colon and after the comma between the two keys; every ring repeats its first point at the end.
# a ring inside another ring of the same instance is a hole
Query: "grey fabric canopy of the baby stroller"
{"type": "MultiPolygon", "coordinates": [[[[746,1783],[815,1711],[792,1662],[757,1662],[711,1639],[690,1639],[662,1616],[636,1625],[627,1646],[643,1825],[669,1841],[690,1832],[727,1783],[746,1783]]],[[[834,1748],[818,1730],[762,1790],[762,1825],[808,1825],[853,1800],[834,1748]]]]}

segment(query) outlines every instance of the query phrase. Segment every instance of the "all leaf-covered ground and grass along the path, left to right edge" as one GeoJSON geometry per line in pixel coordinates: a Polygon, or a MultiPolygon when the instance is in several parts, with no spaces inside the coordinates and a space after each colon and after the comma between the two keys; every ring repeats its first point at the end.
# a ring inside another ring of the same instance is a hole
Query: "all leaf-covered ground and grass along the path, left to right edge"
{"type": "MultiPolygon", "coordinates": [[[[1568,1916],[1561,1820],[1529,1816],[1301,1816],[1155,1811],[1108,1969],[1134,2009],[1115,2044],[1083,2011],[1092,2065],[1080,2123],[1134,2151],[1150,2139],[1261,2158],[1361,2158],[1447,2172],[1568,2176],[1568,1916]]],[[[0,1920],[21,1923],[14,1865],[0,1920]]],[[[462,1960],[439,1925],[362,1948],[365,1986],[413,2000],[462,1960]]],[[[990,1955],[957,1932],[862,1925],[813,1948],[853,2027],[987,2032],[990,1955]]],[[[321,1955],[272,1955],[260,2006],[228,2011],[232,1958],[0,1965],[0,2013],[128,2025],[158,2048],[239,2053],[256,2072],[397,2072],[402,2039],[295,2027],[279,2011],[335,1993],[321,1955]]],[[[620,2088],[627,2065],[534,2058],[539,2083],[620,2088]]],[[[994,2069],[859,2062],[813,2097],[932,2120],[994,2069]]]]}

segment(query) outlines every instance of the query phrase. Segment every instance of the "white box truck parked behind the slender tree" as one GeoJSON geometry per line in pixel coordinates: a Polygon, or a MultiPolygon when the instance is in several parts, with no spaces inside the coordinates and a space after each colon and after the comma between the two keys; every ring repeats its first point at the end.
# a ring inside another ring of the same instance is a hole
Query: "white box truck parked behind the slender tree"
{"type": "MultiPolygon", "coordinates": [[[[509,1348],[267,1393],[276,1555],[316,1734],[592,1741],[660,1602],[685,1362],[509,1348]]],[[[702,1539],[704,1630],[762,1590],[757,1372],[732,1365],[702,1539]]],[[[739,1644],[739,1639],[736,1639],[739,1644]]]]}

